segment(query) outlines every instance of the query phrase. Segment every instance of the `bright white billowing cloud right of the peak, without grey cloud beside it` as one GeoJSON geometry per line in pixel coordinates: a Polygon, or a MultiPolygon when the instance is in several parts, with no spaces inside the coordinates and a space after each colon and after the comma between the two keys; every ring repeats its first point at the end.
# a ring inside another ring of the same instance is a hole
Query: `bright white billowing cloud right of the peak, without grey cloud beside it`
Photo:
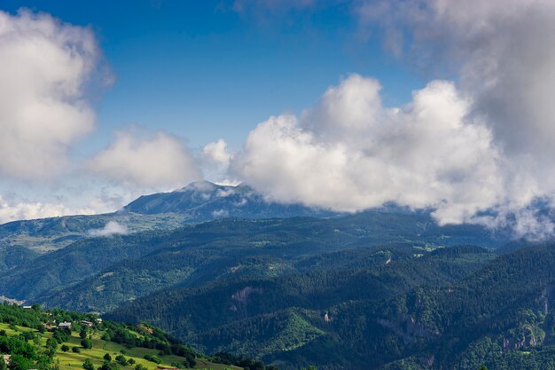
{"type": "Polygon", "coordinates": [[[453,83],[429,83],[395,108],[379,91],[376,80],[350,75],[301,117],[262,122],[232,169],[272,200],[340,211],[395,201],[434,208],[443,224],[502,200],[491,132],[467,119],[472,102],[453,83]]]}

